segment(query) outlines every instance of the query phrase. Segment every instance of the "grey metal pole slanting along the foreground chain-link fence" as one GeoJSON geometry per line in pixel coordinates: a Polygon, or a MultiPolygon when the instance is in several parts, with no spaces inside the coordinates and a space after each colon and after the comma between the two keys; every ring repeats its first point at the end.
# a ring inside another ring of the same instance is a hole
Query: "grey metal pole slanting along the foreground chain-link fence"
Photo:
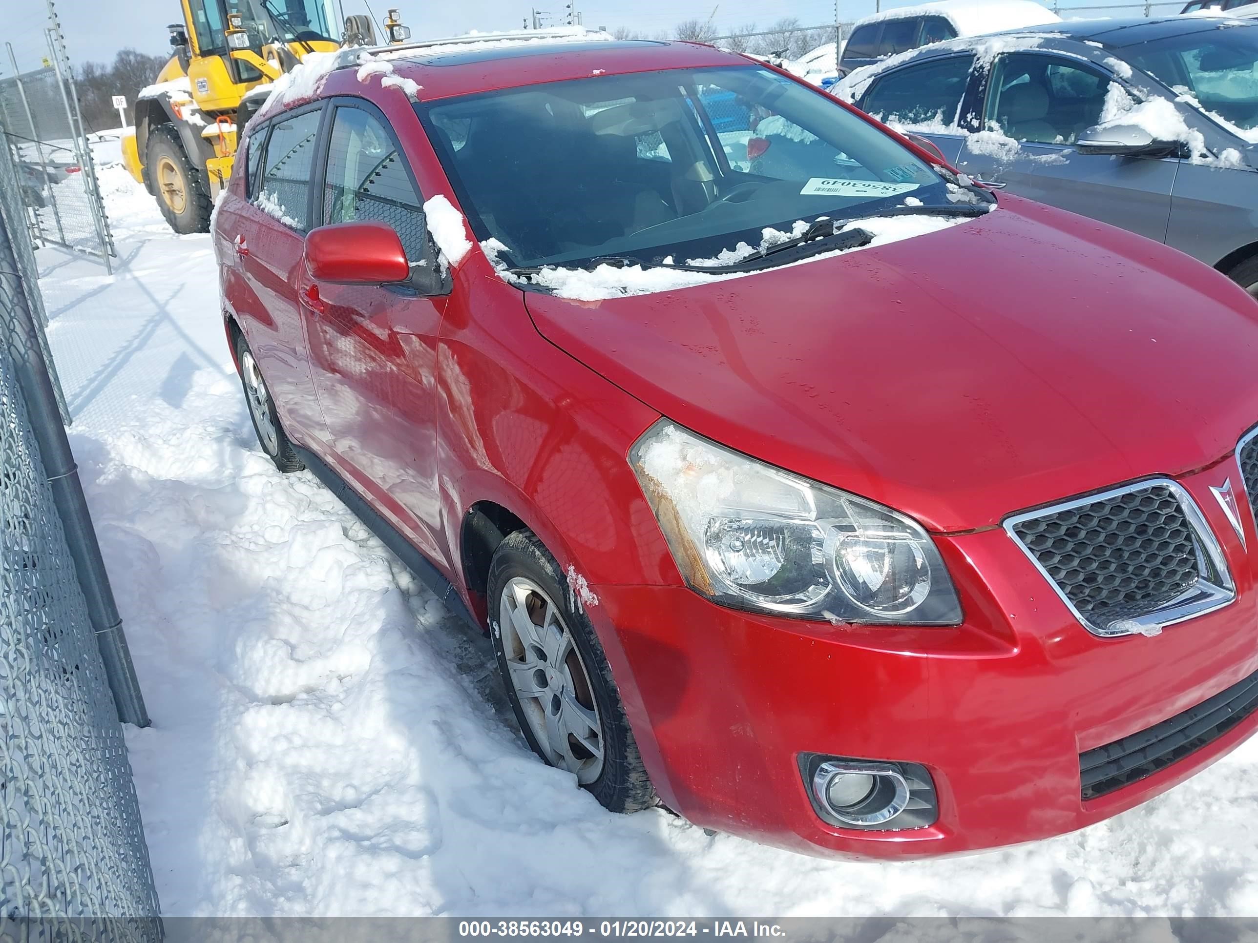
{"type": "MultiPolygon", "coordinates": [[[[0,181],[11,185],[15,170],[9,158],[8,148],[0,148],[0,161],[4,172],[0,181]]],[[[13,357],[18,386],[26,404],[30,426],[39,446],[44,474],[48,477],[57,513],[65,532],[70,558],[78,576],[79,587],[87,602],[88,617],[96,635],[101,660],[104,663],[106,678],[113,692],[113,703],[118,719],[136,727],[147,727],[148,713],[140,683],[131,664],[127,637],[122,631],[122,617],[113,600],[109,576],[101,556],[92,517],[88,513],[83,485],[79,482],[78,468],[65,438],[65,426],[57,409],[57,395],[48,372],[48,365],[39,345],[39,333],[31,316],[30,304],[23,287],[21,272],[16,258],[16,246],[9,231],[9,223],[0,214],[0,297],[13,299],[11,317],[0,318],[0,328],[11,324],[11,333],[0,332],[0,343],[9,348],[13,357]]]]}

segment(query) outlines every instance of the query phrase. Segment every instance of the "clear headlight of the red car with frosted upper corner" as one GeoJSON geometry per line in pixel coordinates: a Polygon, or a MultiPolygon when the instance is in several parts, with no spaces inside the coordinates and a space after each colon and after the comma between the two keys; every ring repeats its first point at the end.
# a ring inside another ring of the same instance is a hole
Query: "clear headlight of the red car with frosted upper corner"
{"type": "Polygon", "coordinates": [[[843,622],[961,621],[935,542],[891,508],[667,420],[629,459],[682,576],[715,602],[843,622]]]}

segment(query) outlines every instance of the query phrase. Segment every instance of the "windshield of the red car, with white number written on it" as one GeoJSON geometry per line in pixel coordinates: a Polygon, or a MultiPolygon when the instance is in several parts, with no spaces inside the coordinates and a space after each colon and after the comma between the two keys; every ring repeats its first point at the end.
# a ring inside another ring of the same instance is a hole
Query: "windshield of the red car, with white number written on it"
{"type": "Polygon", "coordinates": [[[502,243],[518,267],[708,260],[760,245],[766,228],[956,197],[829,96],[756,65],[556,82],[416,111],[477,238],[502,243]]]}

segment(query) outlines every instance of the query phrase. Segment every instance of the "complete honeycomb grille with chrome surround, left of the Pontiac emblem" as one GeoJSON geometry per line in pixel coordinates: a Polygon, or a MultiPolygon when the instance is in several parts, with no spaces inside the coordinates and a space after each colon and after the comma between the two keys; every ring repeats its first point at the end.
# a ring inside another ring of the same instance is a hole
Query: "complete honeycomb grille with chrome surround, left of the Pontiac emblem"
{"type": "Polygon", "coordinates": [[[1234,596],[1200,512],[1166,479],[1019,514],[1005,528],[1097,635],[1159,630],[1160,615],[1179,621],[1234,596]]]}

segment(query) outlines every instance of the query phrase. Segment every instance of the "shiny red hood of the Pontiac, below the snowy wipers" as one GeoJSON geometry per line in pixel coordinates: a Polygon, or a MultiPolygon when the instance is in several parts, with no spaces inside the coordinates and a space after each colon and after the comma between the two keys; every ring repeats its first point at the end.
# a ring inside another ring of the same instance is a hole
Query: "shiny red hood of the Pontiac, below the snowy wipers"
{"type": "Polygon", "coordinates": [[[745,278],[526,303],[547,339],[673,421],[936,532],[1203,468],[1258,422],[1244,292],[1010,196],[745,278]]]}

